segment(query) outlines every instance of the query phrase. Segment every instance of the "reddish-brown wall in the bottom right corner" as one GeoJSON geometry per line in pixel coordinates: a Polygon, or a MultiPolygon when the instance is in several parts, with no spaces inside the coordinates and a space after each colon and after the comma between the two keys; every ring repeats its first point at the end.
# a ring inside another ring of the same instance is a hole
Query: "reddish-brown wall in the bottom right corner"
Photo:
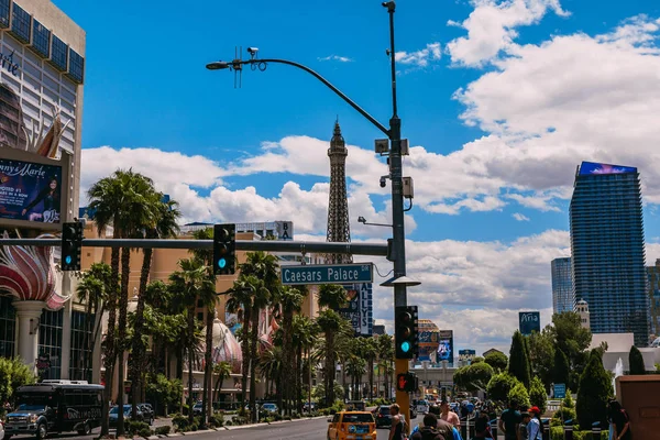
{"type": "Polygon", "coordinates": [[[632,438],[660,440],[660,375],[617,377],[616,396],[630,416],[632,438]]]}

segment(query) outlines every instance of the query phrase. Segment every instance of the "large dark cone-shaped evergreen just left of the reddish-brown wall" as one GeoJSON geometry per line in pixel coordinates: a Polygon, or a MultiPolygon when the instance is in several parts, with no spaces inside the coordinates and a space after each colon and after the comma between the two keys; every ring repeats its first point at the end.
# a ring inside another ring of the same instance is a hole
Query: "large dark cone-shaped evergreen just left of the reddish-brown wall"
{"type": "Polygon", "coordinates": [[[596,421],[606,426],[607,402],[613,395],[609,373],[603,367],[597,350],[592,350],[578,388],[578,421],[582,429],[590,429],[596,421]]]}

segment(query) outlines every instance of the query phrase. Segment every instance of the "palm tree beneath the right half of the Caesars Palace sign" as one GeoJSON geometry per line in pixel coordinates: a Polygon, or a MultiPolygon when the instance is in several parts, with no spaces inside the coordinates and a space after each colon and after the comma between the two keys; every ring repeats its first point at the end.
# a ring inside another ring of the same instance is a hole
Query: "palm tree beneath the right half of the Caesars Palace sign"
{"type": "Polygon", "coordinates": [[[346,290],[336,284],[322,285],[318,294],[319,306],[326,309],[319,312],[317,323],[326,336],[326,405],[334,404],[334,364],[337,362],[336,336],[342,328],[344,319],[336,311],[343,307],[346,301],[346,290]]]}

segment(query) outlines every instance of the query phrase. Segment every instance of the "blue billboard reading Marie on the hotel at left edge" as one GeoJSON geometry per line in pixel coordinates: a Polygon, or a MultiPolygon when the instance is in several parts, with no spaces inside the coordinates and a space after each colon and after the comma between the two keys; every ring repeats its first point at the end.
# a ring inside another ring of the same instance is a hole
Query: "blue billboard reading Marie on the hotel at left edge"
{"type": "Polygon", "coordinates": [[[59,223],[62,167],[0,158],[0,218],[59,223]]]}

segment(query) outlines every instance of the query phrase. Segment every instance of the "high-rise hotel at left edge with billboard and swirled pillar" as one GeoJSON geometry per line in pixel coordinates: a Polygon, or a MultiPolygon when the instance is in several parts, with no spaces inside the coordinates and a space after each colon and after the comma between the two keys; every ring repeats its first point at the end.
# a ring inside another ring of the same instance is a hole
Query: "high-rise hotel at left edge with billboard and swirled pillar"
{"type": "MultiPolygon", "coordinates": [[[[78,215],[85,31],[51,0],[0,0],[0,234],[57,233],[78,215]]],[[[81,378],[88,332],[52,248],[0,248],[0,356],[81,378]]]]}

